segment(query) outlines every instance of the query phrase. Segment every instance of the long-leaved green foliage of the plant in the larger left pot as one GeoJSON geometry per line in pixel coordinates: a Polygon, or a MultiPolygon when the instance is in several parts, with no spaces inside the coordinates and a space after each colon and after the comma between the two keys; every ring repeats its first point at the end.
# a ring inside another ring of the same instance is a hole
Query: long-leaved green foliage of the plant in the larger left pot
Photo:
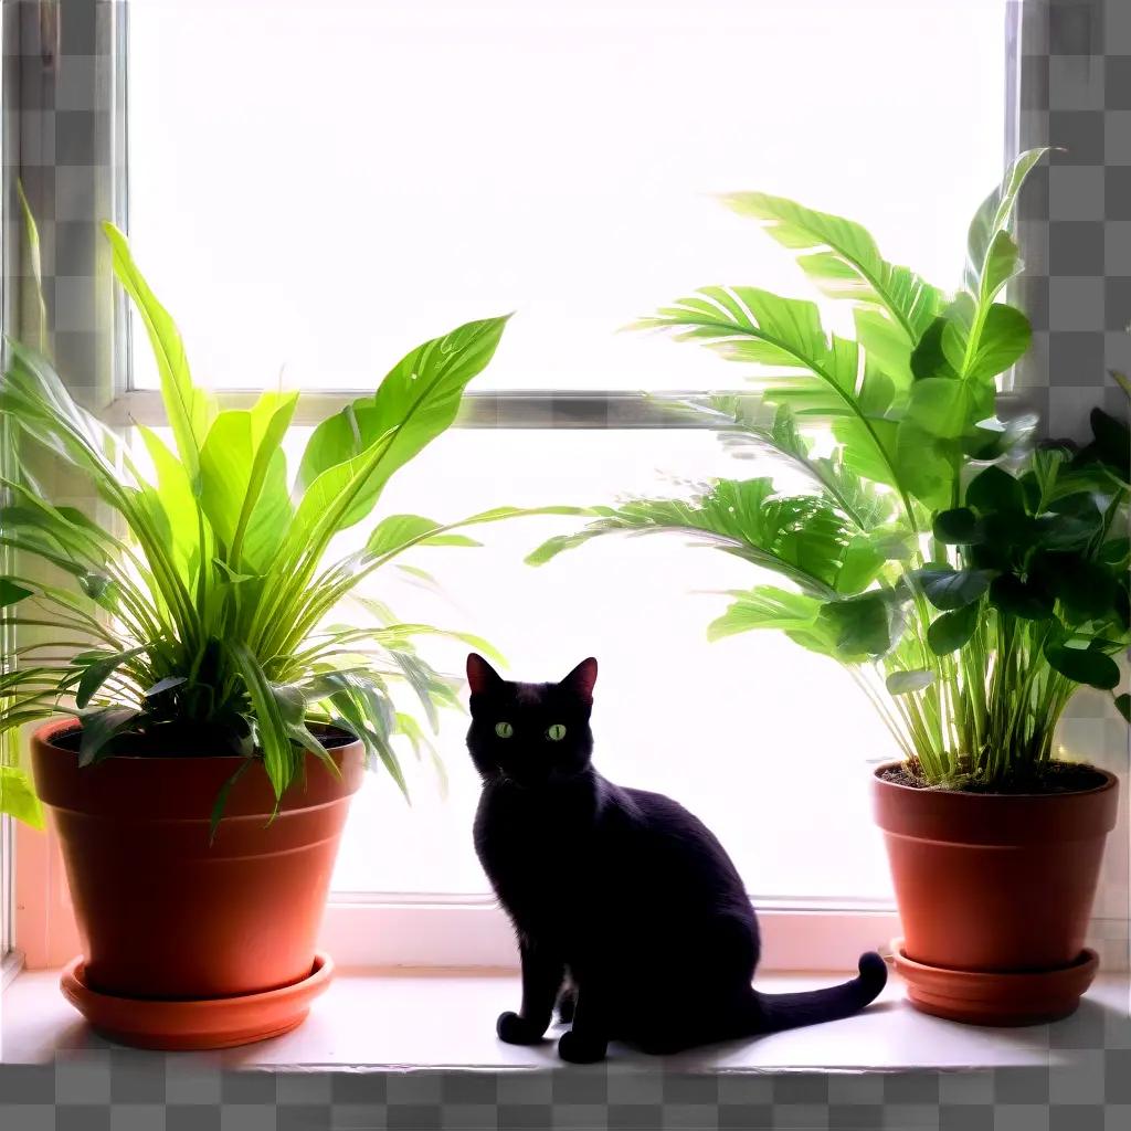
{"type": "MultiPolygon", "coordinates": [[[[43,446],[86,476],[129,535],[119,541],[52,504],[21,469],[2,477],[0,547],[62,570],[70,584],[46,584],[32,569],[0,577],[3,624],[53,630],[0,670],[0,733],[69,714],[83,724],[84,763],[112,753],[119,736],[143,734],[154,752],[175,743],[261,761],[282,796],[308,753],[328,758],[312,725],[337,723],[404,789],[394,739],[403,735],[417,757],[434,759],[434,749],[412,714],[395,709],[396,688],[414,697],[432,729],[440,708],[458,706],[452,683],[417,648],[442,630],[399,623],[375,602],[369,628],[335,624],[333,610],[415,546],[477,543],[456,533],[464,524],[413,515],[383,517],[362,551],[338,560],[331,542],[369,518],[390,476],[452,423],[507,319],[470,322],[413,349],[374,394],[314,430],[292,483],[283,440],[297,395],[266,392],[250,411],[219,412],[193,383],[176,326],[126,239],[110,225],[106,238],[157,359],[175,450],[141,429],[155,468],[143,474],[42,352],[7,344],[0,421],[23,446],[43,446]]],[[[467,524],[519,513],[500,508],[467,524]]],[[[478,637],[449,634],[491,651],[478,637]]],[[[38,820],[27,778],[14,765],[2,772],[0,811],[38,820]]]]}

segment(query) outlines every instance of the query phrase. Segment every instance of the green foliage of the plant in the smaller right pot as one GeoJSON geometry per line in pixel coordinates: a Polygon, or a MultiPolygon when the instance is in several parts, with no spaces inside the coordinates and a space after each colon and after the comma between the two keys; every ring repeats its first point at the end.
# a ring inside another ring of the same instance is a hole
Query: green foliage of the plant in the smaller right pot
{"type": "MultiPolygon", "coordinates": [[[[748,368],[750,394],[677,406],[736,455],[769,452],[808,489],[722,480],[689,500],[597,507],[529,556],[615,532],[667,530],[772,570],[791,588],[731,594],[711,639],[775,629],[844,664],[927,780],[1024,780],[1051,757],[1081,683],[1111,690],[1131,642],[1129,437],[1097,411],[1082,451],[1033,450],[1030,416],[1001,421],[995,379],[1027,349],[1001,301],[1021,270],[1011,224],[1043,152],[1024,154],[970,224],[953,295],[887,262],[858,224],[759,192],[726,199],[854,305],[856,336],[818,308],[709,286],[638,325],[748,368]],[[831,429],[830,455],[809,435],[831,429]]],[[[1121,382],[1122,383],[1122,382],[1121,382]]],[[[1129,711],[1129,699],[1115,698],[1129,711]]]]}

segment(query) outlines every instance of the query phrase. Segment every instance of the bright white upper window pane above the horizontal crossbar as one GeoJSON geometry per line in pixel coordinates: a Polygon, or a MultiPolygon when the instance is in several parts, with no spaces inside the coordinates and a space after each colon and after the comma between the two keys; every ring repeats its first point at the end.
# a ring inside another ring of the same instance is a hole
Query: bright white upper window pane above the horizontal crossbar
{"type": "Polygon", "coordinates": [[[221,387],[368,388],[508,310],[478,389],[718,386],[741,369],[614,333],[706,284],[810,293],[714,195],[956,285],[1003,38],[1000,0],[139,0],[131,235],[221,387]]]}

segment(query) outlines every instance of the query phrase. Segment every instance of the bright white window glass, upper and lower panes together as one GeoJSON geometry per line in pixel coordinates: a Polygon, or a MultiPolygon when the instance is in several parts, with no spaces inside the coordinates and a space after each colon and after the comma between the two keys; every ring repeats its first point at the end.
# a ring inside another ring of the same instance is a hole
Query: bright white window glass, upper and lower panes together
{"type": "MultiPolygon", "coordinates": [[[[949,286],[1002,167],[995,2],[285,0],[269,53],[264,19],[250,0],[131,7],[130,236],[195,372],[221,389],[282,373],[333,403],[417,340],[518,311],[473,386],[525,390],[502,428],[441,438],[390,486],[387,513],[601,502],[735,474],[702,430],[525,425],[561,392],[589,390],[596,422],[603,398],[740,383],[702,351],[615,333],[665,300],[707,283],[812,296],[714,193],[760,188],[858,218],[949,286]]],[[[827,311],[844,328],[846,311],[827,311]]],[[[156,381],[133,340],[127,396],[144,413],[156,381]]],[[[865,765],[895,751],[847,676],[777,637],[707,644],[722,598],[702,590],[749,585],[742,563],[653,538],[524,566],[560,528],[513,523],[478,550],[421,551],[443,594],[406,578],[382,599],[486,636],[518,676],[596,654],[610,777],[684,801],[759,898],[887,904],[865,765]]],[[[461,649],[438,655],[461,667],[461,649]]],[[[446,801],[424,767],[412,809],[387,780],[356,798],[340,903],[485,896],[465,727],[451,717],[438,739],[446,801]]]]}

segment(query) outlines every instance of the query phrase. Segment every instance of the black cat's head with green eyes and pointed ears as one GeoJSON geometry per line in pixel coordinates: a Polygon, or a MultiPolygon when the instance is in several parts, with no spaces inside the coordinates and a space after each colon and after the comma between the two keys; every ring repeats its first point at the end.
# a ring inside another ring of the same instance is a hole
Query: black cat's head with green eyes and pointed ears
{"type": "Polygon", "coordinates": [[[595,659],[581,661],[561,683],[512,683],[472,653],[467,682],[472,689],[467,749],[484,782],[503,778],[535,788],[588,769],[595,659]]]}

